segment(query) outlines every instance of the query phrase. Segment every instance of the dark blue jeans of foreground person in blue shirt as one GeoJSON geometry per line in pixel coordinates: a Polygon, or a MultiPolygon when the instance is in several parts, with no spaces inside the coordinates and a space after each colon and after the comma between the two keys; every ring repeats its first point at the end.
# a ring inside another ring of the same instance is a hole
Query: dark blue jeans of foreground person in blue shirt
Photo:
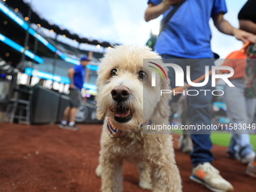
{"type": "MultiPolygon", "coordinates": [[[[213,59],[182,59],[176,56],[161,55],[163,62],[164,59],[173,59],[172,62],[181,66],[184,71],[184,77],[186,77],[186,66],[190,66],[190,78],[191,81],[205,75],[205,66],[209,66],[209,70],[214,66],[213,59]]],[[[171,81],[171,87],[175,87],[175,71],[172,67],[169,67],[168,77],[171,81]]],[[[210,114],[210,104],[212,101],[211,91],[202,92],[200,90],[212,90],[212,78],[209,78],[209,82],[203,87],[190,87],[188,90],[198,90],[197,96],[187,96],[187,105],[190,114],[190,124],[203,124],[210,125],[212,123],[212,117],[210,114]]],[[[192,94],[192,93],[191,93],[192,94]]],[[[175,96],[172,100],[175,100],[175,96]]],[[[172,102],[172,100],[170,102],[172,102]]],[[[211,163],[212,157],[212,141],[210,139],[210,130],[203,133],[191,132],[191,139],[193,141],[194,151],[190,154],[190,158],[193,166],[197,166],[200,163],[211,163]]]]}

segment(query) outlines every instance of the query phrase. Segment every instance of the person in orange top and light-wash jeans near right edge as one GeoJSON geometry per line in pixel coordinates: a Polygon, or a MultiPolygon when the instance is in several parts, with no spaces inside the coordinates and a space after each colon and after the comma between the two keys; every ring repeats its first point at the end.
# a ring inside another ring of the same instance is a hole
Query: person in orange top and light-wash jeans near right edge
{"type": "MultiPolygon", "coordinates": [[[[256,106],[255,98],[245,96],[245,66],[248,44],[245,44],[241,50],[230,53],[233,59],[226,59],[221,66],[229,66],[234,69],[234,75],[229,78],[234,87],[227,84],[224,87],[224,102],[227,105],[227,117],[234,126],[242,126],[239,129],[231,130],[230,145],[227,154],[230,158],[241,160],[242,163],[249,163],[254,160],[255,153],[250,143],[249,130],[245,129],[251,126],[254,120],[254,111],[256,106]],[[239,101],[239,102],[237,102],[239,101]]],[[[228,70],[221,69],[218,75],[230,73],[228,70]]]]}

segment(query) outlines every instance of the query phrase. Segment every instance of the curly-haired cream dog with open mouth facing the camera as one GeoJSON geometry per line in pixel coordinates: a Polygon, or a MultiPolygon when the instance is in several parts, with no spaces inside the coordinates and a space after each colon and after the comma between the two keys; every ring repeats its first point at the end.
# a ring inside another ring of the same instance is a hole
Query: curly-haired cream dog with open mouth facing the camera
{"type": "MultiPolygon", "coordinates": [[[[180,192],[172,136],[144,134],[145,122],[168,125],[169,79],[156,77],[151,87],[151,67],[143,59],[160,59],[148,47],[118,46],[108,51],[99,66],[96,96],[99,120],[105,118],[100,140],[99,166],[103,192],[120,192],[123,160],[138,163],[139,186],[154,192],[180,192]]],[[[167,70],[166,68],[164,68],[167,70]]]]}

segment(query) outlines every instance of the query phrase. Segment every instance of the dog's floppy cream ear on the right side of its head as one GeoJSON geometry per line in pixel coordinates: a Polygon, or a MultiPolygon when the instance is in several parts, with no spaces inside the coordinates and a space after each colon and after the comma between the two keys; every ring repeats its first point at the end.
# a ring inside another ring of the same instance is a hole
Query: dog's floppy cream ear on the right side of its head
{"type": "MultiPolygon", "coordinates": [[[[161,79],[161,90],[170,90],[170,86],[169,86],[169,78],[163,78],[161,79]]],[[[171,114],[171,109],[169,106],[169,99],[171,99],[172,96],[170,93],[167,94],[163,94],[161,96],[160,102],[157,105],[157,110],[159,111],[160,115],[163,118],[169,117],[169,115],[171,114]]]]}

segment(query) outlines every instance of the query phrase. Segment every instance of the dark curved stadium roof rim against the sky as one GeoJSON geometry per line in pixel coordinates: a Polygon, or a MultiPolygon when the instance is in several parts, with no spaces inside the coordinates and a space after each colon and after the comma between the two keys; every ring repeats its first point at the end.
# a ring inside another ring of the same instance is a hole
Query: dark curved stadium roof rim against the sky
{"type": "MultiPolygon", "coordinates": [[[[30,5],[24,2],[23,0],[7,0],[5,1],[5,4],[14,9],[18,8],[19,12],[23,14],[23,16],[26,16],[29,13],[30,5]]],[[[62,29],[62,27],[59,27],[53,23],[50,23],[47,20],[44,20],[44,18],[41,18],[41,16],[38,13],[36,13],[36,11],[33,11],[33,9],[32,9],[32,16],[29,19],[31,19],[30,20],[31,23],[40,24],[42,27],[49,30],[53,29],[53,31],[56,32],[56,34],[66,35],[67,38],[75,39],[79,43],[93,44],[93,45],[99,44],[101,47],[113,47],[114,45],[117,45],[115,43],[111,44],[111,42],[107,42],[107,41],[97,41],[97,40],[91,40],[90,38],[81,38],[79,35],[73,34],[68,29],[62,29]]]]}

